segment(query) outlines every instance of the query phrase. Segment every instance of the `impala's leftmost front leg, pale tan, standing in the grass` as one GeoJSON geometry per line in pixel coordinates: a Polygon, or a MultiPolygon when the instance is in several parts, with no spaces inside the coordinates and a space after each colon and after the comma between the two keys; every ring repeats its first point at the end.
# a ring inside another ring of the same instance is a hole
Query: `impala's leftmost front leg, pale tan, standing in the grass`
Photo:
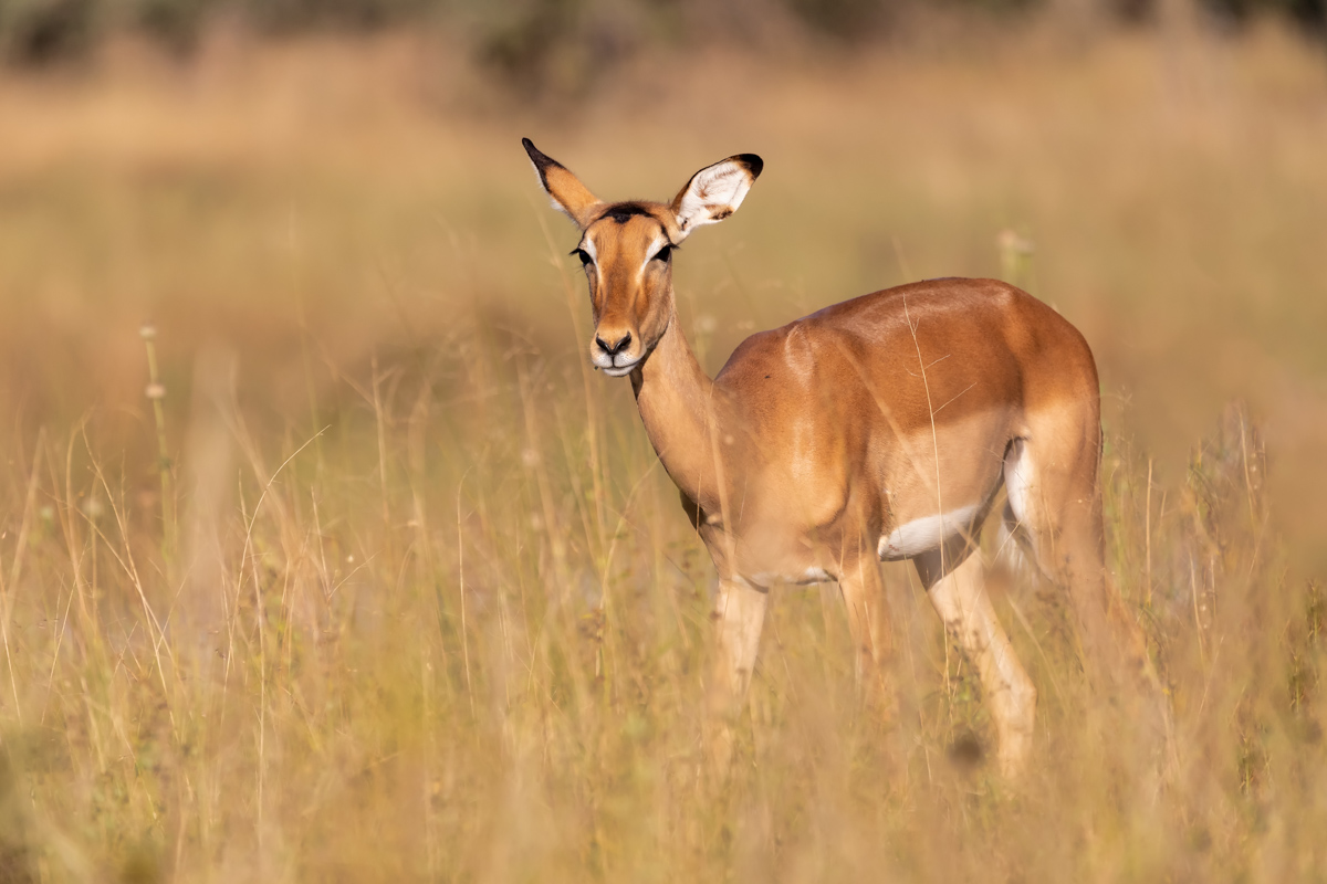
{"type": "Polygon", "coordinates": [[[710,761],[719,770],[726,770],[733,758],[733,721],[740,712],[742,700],[751,684],[767,602],[766,590],[744,580],[719,580],[719,596],[714,607],[718,634],[714,667],[710,671],[706,722],[710,730],[706,741],[710,761]]]}

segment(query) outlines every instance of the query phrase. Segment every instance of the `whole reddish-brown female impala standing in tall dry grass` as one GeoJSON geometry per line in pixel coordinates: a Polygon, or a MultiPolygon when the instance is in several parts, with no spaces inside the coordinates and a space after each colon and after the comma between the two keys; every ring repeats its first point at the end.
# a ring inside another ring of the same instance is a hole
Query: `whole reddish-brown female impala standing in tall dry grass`
{"type": "MultiPolygon", "coordinates": [[[[837,580],[859,672],[886,664],[877,558],[908,558],[975,664],[1001,767],[1016,773],[1036,688],[995,619],[973,541],[1002,484],[1005,524],[1070,588],[1089,659],[1123,653],[1147,668],[1105,580],[1096,366],[1074,326],[1003,282],[930,280],[755,334],[710,380],[677,322],[673,250],[736,211],[760,158],[702,168],[671,203],[605,203],[523,143],[581,231],[591,360],[630,376],[645,432],[718,569],[714,712],[746,692],[776,583],[837,580]]],[[[721,758],[729,742],[725,728],[721,758]]]]}

